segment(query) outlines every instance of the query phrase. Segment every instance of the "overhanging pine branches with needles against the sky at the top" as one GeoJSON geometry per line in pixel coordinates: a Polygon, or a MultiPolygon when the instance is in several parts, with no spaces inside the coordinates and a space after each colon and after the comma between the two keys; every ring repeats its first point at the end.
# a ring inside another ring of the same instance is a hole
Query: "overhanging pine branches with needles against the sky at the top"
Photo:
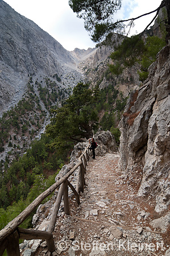
{"type": "MultiPolygon", "coordinates": [[[[85,29],[92,35],[92,40],[94,42],[103,42],[104,40],[104,43],[107,44],[111,43],[113,33],[127,34],[134,25],[134,21],[139,19],[137,16],[127,20],[115,20],[115,13],[117,10],[121,9],[121,3],[121,0],[69,0],[69,5],[73,12],[77,13],[79,18],[84,19],[85,29]]],[[[164,6],[168,13],[166,23],[168,23],[169,26],[168,0],[163,0],[160,3],[160,6],[156,10],[153,10],[152,13],[156,13],[156,19],[159,10],[164,6]]],[[[148,12],[146,11],[146,14],[143,14],[142,16],[147,15],[147,13],[148,12]]],[[[159,22],[159,20],[157,20],[157,22],[159,22]]]]}

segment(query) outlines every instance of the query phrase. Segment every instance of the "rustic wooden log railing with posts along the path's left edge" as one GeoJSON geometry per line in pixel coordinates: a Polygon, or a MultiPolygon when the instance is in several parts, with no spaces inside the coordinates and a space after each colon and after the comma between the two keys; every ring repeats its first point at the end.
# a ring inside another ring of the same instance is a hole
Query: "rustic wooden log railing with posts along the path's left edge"
{"type": "Polygon", "coordinates": [[[65,214],[70,214],[69,210],[69,199],[68,199],[68,187],[70,187],[76,197],[76,201],[80,204],[79,194],[80,191],[84,192],[85,179],[84,174],[86,172],[86,165],[89,160],[89,145],[85,148],[82,155],[78,158],[78,163],[59,181],[49,187],[46,191],[44,191],[41,195],[36,197],[36,199],[28,205],[26,209],[23,210],[14,220],[10,221],[9,224],[5,226],[0,231],[0,256],[2,256],[5,249],[7,250],[8,256],[20,256],[19,251],[19,238],[26,240],[36,240],[42,239],[47,241],[48,250],[53,253],[55,251],[55,243],[53,240],[52,233],[55,229],[55,223],[57,218],[57,213],[59,212],[61,200],[64,200],[64,212],[65,214]],[[74,171],[78,171],[77,184],[76,188],[68,181],[68,177],[70,177],[74,171]],[[59,188],[60,187],[60,188],[59,188]],[[38,205],[56,188],[59,188],[59,192],[57,194],[57,199],[54,205],[53,214],[48,226],[47,231],[34,230],[34,229],[23,229],[19,228],[19,225],[22,224],[24,220],[38,207],[38,205]]]}

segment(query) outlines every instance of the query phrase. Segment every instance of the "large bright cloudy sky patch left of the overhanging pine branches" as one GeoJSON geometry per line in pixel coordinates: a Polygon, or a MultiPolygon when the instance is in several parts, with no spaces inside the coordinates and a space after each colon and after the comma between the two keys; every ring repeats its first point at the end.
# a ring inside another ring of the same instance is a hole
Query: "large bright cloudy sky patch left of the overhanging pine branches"
{"type": "Polygon", "coordinates": [[[5,0],[15,11],[33,20],[52,35],[61,45],[72,51],[74,48],[95,47],[84,21],[77,18],[68,5],[68,0],[5,0]]]}

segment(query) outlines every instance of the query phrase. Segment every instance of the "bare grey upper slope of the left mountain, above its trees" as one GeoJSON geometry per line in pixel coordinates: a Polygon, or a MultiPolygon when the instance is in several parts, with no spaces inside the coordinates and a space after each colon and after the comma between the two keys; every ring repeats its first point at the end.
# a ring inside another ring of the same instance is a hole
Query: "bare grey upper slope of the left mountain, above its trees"
{"type": "MultiPolygon", "coordinates": [[[[0,1],[0,111],[15,103],[26,90],[28,76],[64,77],[73,71],[74,60],[47,32],[0,1]]],[[[53,80],[56,80],[53,77],[53,80]]],[[[69,82],[68,82],[69,83],[69,82]]],[[[67,84],[65,84],[67,86],[67,84]]],[[[63,86],[63,87],[65,87],[63,86]]]]}

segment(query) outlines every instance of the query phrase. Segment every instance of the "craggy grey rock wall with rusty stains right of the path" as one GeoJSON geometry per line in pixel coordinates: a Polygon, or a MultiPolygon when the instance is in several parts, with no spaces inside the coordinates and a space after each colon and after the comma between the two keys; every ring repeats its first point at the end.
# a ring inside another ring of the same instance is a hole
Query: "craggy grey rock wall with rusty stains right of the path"
{"type": "Polygon", "coordinates": [[[156,212],[170,203],[170,55],[165,46],[150,66],[144,85],[131,93],[120,123],[121,160],[128,174],[143,169],[139,196],[152,195],[156,212]]]}

